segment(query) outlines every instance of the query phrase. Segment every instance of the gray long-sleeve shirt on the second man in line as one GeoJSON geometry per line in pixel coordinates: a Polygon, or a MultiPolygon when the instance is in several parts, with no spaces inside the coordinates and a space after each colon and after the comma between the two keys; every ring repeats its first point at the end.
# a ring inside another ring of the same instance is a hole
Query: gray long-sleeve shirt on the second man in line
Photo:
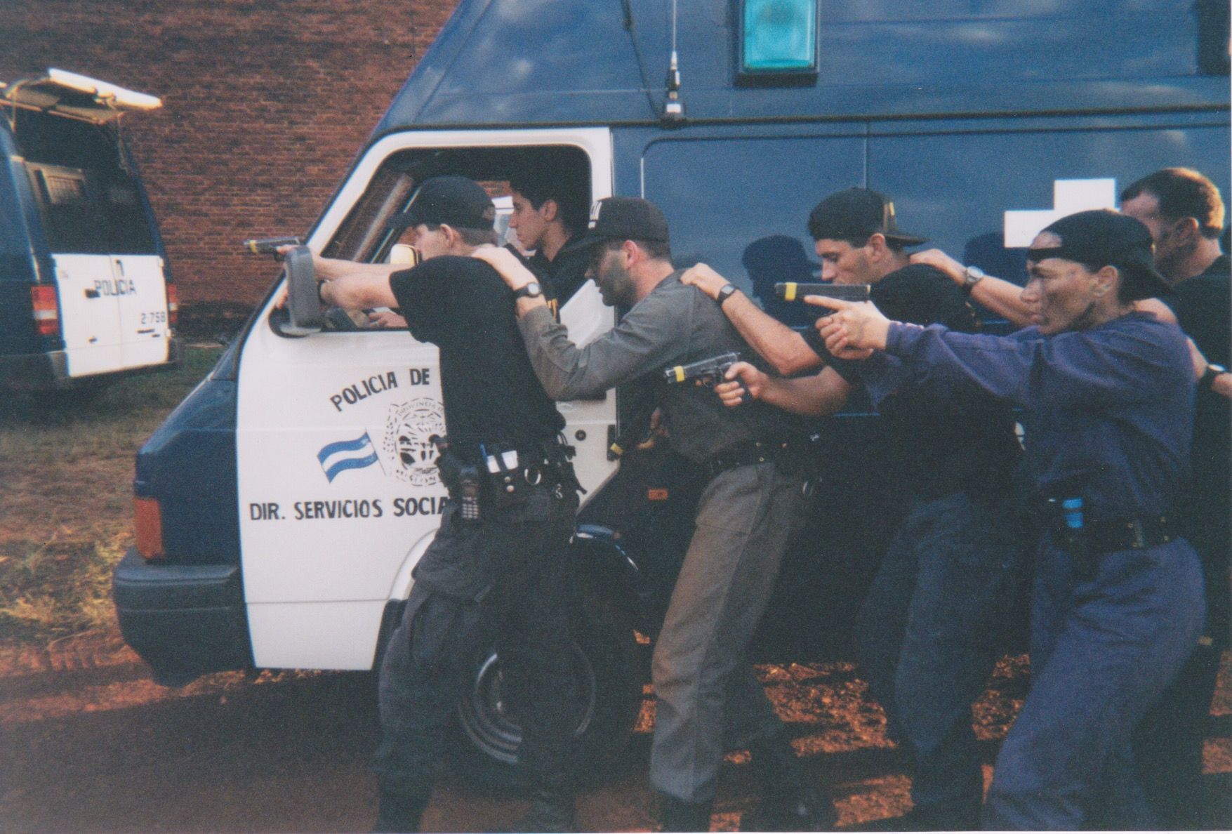
{"type": "Polygon", "coordinates": [[[599,397],[609,388],[646,374],[655,379],[668,421],[669,441],[685,457],[705,462],[737,443],[772,440],[791,432],[791,418],[763,403],[724,407],[707,388],[668,386],[663,370],[739,352],[760,363],[722,309],[695,287],[680,283],[680,272],[664,278],[611,331],[585,347],[569,340],[568,329],[546,307],[519,320],[526,351],[548,397],[557,400],[599,397]]]}

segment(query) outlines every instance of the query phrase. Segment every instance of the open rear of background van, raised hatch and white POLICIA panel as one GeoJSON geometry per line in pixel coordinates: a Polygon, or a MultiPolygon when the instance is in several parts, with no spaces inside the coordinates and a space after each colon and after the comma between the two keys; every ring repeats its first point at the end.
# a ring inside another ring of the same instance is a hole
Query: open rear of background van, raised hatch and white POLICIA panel
{"type": "Polygon", "coordinates": [[[0,89],[0,105],[34,281],[55,287],[63,356],[53,387],[174,361],[174,289],[115,127],[126,113],[161,106],[159,99],[52,69],[0,89]]]}

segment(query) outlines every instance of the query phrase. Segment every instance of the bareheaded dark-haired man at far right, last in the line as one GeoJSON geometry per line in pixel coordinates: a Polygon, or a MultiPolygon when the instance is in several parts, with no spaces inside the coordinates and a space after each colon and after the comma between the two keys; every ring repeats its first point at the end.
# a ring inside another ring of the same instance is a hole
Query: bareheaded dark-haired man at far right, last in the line
{"type": "Polygon", "coordinates": [[[1228,256],[1220,248],[1223,200],[1207,177],[1165,168],[1130,185],[1121,211],[1151,229],[1156,269],[1172,285],[1161,302],[1196,342],[1193,480],[1180,503],[1185,538],[1206,573],[1206,630],[1189,663],[1152,710],[1135,745],[1138,774],[1164,828],[1194,828],[1201,808],[1202,743],[1220,653],[1228,646],[1228,524],[1232,414],[1226,389],[1232,363],[1228,256]],[[1222,378],[1222,381],[1221,381],[1222,378]]]}

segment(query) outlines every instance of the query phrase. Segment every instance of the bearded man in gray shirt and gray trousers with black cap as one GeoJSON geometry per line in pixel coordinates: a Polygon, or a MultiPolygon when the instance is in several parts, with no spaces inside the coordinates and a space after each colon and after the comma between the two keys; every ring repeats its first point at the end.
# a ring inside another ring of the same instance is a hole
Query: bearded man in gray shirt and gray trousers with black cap
{"type": "MultiPolygon", "coordinates": [[[[745,657],[802,510],[802,439],[766,405],[724,409],[710,391],[664,381],[668,367],[748,345],[717,304],[680,283],[658,208],[632,197],[601,200],[577,245],[590,253],[604,302],[631,309],[610,333],[578,347],[541,299],[519,299],[536,373],[556,399],[598,397],[649,376],[669,442],[710,474],[652,665],[658,708],[650,782],[663,797],[663,828],[708,830],[723,753],[745,748],[764,798],[742,819],[743,829],[828,828],[833,804],[802,772],[745,657]]],[[[494,264],[515,292],[533,280],[509,253],[477,256],[494,264]]]]}

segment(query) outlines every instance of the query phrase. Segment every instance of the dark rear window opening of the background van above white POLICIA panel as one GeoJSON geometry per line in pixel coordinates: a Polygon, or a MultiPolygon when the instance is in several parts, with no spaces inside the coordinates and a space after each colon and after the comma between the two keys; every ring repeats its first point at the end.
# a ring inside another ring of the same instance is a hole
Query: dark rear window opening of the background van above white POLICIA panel
{"type": "Polygon", "coordinates": [[[53,253],[158,254],[113,127],[18,111],[15,134],[53,253]]]}

